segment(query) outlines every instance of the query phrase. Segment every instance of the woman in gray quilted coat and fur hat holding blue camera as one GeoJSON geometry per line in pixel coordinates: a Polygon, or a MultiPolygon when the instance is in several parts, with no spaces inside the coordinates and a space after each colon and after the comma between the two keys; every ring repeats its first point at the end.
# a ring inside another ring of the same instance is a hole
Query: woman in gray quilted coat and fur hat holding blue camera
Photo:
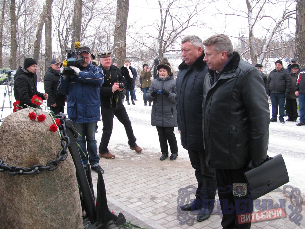
{"type": "Polygon", "coordinates": [[[162,61],[157,66],[159,75],[154,79],[146,94],[146,100],[153,102],[151,125],[156,126],[163,161],[168,157],[167,141],[170,145],[170,160],[175,160],[178,156],[178,145],[174,134],[174,127],[177,124],[176,110],[176,80],[171,73],[170,64],[162,61]]]}

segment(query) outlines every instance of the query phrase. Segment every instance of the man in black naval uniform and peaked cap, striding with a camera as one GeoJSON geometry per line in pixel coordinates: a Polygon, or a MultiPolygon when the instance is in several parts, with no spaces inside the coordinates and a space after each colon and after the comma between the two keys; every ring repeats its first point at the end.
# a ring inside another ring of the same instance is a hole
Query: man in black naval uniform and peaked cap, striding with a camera
{"type": "Polygon", "coordinates": [[[113,128],[113,115],[124,125],[130,149],[140,153],[142,149],[135,143],[137,139],[133,134],[130,119],[121,99],[121,92],[124,90],[122,84],[125,84],[125,79],[120,74],[119,69],[111,64],[111,53],[102,53],[99,54],[99,57],[100,67],[105,75],[105,81],[101,88],[103,134],[99,145],[99,157],[115,158],[115,155],[109,153],[107,148],[113,128]]]}

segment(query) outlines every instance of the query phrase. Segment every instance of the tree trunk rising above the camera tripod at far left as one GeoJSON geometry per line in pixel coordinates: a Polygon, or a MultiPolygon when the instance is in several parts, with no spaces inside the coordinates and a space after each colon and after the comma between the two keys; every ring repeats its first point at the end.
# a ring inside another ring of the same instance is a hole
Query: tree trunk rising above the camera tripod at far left
{"type": "Polygon", "coordinates": [[[16,69],[16,52],[17,52],[17,23],[16,23],[16,2],[11,0],[11,5],[9,7],[11,13],[11,56],[9,58],[10,69],[16,69]]]}

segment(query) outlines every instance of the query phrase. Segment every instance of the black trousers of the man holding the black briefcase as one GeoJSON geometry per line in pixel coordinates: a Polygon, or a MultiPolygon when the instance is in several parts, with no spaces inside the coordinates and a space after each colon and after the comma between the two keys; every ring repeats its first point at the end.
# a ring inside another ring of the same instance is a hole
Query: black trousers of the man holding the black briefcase
{"type": "Polygon", "coordinates": [[[235,196],[233,184],[246,184],[244,172],[246,169],[216,169],[218,197],[223,214],[221,226],[224,229],[248,229],[251,223],[239,224],[239,214],[252,213],[253,199],[249,192],[244,196],[235,196]]]}

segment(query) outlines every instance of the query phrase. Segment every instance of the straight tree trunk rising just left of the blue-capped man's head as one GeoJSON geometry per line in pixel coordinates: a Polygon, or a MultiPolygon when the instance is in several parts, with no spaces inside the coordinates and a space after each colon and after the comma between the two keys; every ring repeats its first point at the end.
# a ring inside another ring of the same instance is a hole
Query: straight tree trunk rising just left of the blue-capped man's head
{"type": "Polygon", "coordinates": [[[45,70],[48,69],[52,60],[52,3],[53,0],[47,0],[45,11],[45,70]]]}

